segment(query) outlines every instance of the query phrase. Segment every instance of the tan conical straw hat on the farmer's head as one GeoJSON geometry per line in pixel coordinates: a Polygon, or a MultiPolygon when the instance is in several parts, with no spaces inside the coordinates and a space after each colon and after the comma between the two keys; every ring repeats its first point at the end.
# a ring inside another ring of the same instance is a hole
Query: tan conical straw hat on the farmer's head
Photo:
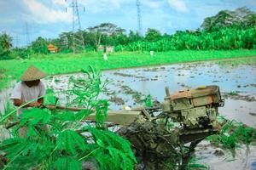
{"type": "Polygon", "coordinates": [[[21,81],[33,81],[46,77],[47,75],[43,71],[39,71],[38,68],[31,65],[20,77],[21,81]]]}

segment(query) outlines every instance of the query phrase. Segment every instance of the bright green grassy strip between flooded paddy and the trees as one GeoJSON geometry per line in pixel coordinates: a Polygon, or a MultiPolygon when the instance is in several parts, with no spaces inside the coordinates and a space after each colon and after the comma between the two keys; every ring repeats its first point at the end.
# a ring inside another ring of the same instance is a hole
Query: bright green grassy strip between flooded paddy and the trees
{"type": "Polygon", "coordinates": [[[35,65],[49,75],[78,72],[88,68],[88,65],[100,70],[129,68],[146,65],[166,65],[173,63],[199,61],[208,59],[230,59],[256,56],[256,50],[207,50],[207,51],[169,51],[155,53],[153,57],[148,52],[119,52],[108,55],[104,61],[102,54],[88,52],[83,54],[49,54],[36,55],[30,59],[1,60],[0,90],[9,86],[12,80],[19,80],[20,75],[29,65],[35,65]]]}

